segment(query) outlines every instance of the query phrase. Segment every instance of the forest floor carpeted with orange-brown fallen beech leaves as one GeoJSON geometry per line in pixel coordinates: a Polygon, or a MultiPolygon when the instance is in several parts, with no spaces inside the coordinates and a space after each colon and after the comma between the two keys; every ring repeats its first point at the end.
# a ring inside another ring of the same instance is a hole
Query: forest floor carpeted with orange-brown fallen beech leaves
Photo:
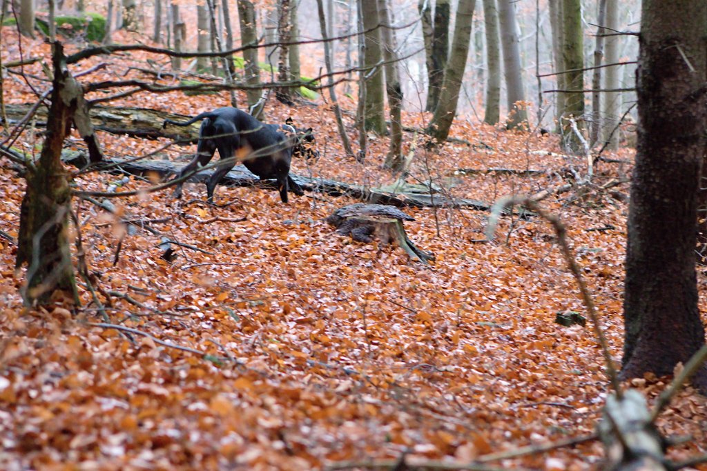
{"type": "MultiPolygon", "coordinates": [[[[16,35],[8,28],[3,35],[3,61],[18,59],[16,35]]],[[[23,42],[25,57],[47,51],[23,42]]],[[[107,68],[81,81],[116,79],[145,59],[103,56],[76,71],[103,61],[107,68]]],[[[42,75],[39,64],[25,73],[42,75]]],[[[19,76],[6,74],[3,87],[8,102],[35,101],[19,76]]],[[[112,103],[192,116],[228,104],[226,93],[143,93],[112,103]]],[[[317,162],[293,161],[293,172],[368,186],[395,181],[380,168],[387,138],[370,139],[359,163],[341,150],[327,105],[269,102],[266,121],[288,116],[314,127],[321,153],[317,162]]],[[[427,119],[405,114],[404,124],[421,127],[427,119]]],[[[355,136],[351,114],[346,123],[355,136]]],[[[409,182],[432,181],[455,198],[493,203],[571,182],[572,170],[587,173],[585,160],[563,155],[554,136],[463,118],[452,136],[471,145],[418,145],[409,182]],[[458,172],[494,167],[542,172],[458,172]]],[[[25,133],[15,145],[37,152],[40,137],[25,133]]],[[[405,134],[405,153],[415,139],[405,134]]],[[[106,133],[100,141],[106,155],[119,157],[166,143],[106,133]]],[[[75,134],[69,140],[81,143],[75,134]]],[[[172,146],[160,155],[183,162],[193,152],[193,145],[172,146]]],[[[621,162],[601,162],[594,186],[553,194],[542,205],[568,227],[619,362],[629,186],[601,186],[630,175],[633,151],[604,155],[621,162]]],[[[0,229],[17,237],[25,182],[0,162],[0,229]]],[[[88,191],[149,186],[98,173],[75,183],[88,191]]],[[[117,214],[136,221],[129,229],[74,201],[89,268],[113,293],[110,304],[98,294],[102,309],[83,286],[80,307],[57,298],[24,308],[16,245],[0,238],[0,469],[306,470],[402,453],[408,463],[469,462],[594,431],[610,393],[604,361],[589,324],[554,322],[557,313],[585,309],[543,220],[503,217],[497,238],[479,242],[487,212],[403,208],[416,219],[405,223],[410,239],[436,255],[425,266],[397,246],[335,234],[323,219],[356,202],[351,198],[308,192],[283,204],[276,191],[219,186],[221,207],[214,207],[203,202],[203,184],[187,184],[181,201],[170,193],[113,200],[117,214]],[[140,221],[157,221],[149,224],[160,234],[140,221]],[[168,263],[160,258],[162,237],[198,250],[175,246],[177,258],[168,263]]],[[[703,293],[703,275],[699,283],[703,293]]],[[[703,294],[701,308],[707,311],[703,294]]],[[[668,381],[649,376],[626,386],[653,400],[668,381]]],[[[707,400],[691,388],[659,424],[664,434],[691,437],[670,448],[670,458],[707,452],[707,400]]],[[[602,455],[600,442],[585,441],[488,465],[584,470],[602,455]]]]}

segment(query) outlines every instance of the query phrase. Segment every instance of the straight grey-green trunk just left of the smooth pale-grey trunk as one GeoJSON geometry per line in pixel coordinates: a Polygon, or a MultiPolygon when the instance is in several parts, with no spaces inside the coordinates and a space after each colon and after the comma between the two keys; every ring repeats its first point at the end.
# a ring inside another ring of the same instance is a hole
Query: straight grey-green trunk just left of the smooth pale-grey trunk
{"type": "Polygon", "coordinates": [[[484,123],[496,124],[501,119],[501,49],[498,46],[498,8],[496,0],[484,0],[486,30],[486,111],[484,123]]]}

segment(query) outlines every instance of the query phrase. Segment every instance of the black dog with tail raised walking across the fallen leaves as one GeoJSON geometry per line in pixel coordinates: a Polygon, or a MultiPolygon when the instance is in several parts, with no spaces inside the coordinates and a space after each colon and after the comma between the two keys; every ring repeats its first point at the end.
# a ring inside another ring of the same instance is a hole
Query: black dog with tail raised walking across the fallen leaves
{"type": "MultiPolygon", "coordinates": [[[[209,163],[216,149],[223,160],[214,174],[206,182],[206,195],[209,203],[214,201],[214,189],[223,177],[235,166],[236,160],[256,174],[260,179],[276,179],[279,185],[280,198],[287,203],[287,191],[302,196],[302,188],[290,177],[290,162],[293,153],[304,157],[318,157],[313,148],[314,136],[312,128],[299,131],[287,124],[264,124],[246,112],[233,107],[214,109],[212,112],[201,113],[184,123],[165,119],[163,126],[189,126],[200,120],[199,143],[197,155],[184,167],[177,178],[193,172],[197,167],[209,163]]],[[[177,184],[175,198],[182,196],[182,183],[177,184]]]]}

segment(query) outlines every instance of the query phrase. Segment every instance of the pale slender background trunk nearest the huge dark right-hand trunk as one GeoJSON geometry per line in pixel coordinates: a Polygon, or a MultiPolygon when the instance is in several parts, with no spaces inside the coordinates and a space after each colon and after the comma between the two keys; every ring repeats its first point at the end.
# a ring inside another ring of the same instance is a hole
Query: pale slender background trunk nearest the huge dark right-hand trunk
{"type": "MultiPolygon", "coordinates": [[[[609,31],[619,30],[619,0],[607,0],[607,29],[609,31]]],[[[617,64],[619,62],[619,51],[621,49],[621,35],[612,35],[606,38],[607,64],[617,64]]],[[[617,90],[621,86],[619,77],[621,76],[621,66],[609,66],[604,72],[604,88],[607,90],[617,90]]],[[[610,150],[619,148],[619,130],[616,129],[621,119],[621,92],[604,93],[604,126],[602,129],[602,141],[609,142],[610,150]],[[614,131],[614,129],[616,129],[614,131]]]]}

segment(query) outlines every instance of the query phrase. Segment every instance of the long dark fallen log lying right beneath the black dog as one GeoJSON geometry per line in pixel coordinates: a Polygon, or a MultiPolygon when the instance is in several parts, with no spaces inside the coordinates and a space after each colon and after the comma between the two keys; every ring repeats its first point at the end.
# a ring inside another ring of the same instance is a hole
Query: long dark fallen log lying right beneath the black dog
{"type": "MultiPolygon", "coordinates": [[[[74,167],[83,168],[86,166],[86,157],[82,153],[64,151],[62,160],[74,167]]],[[[98,171],[109,171],[130,175],[157,174],[162,178],[178,174],[184,165],[171,162],[170,160],[131,160],[105,158],[103,162],[94,164],[93,169],[98,171]]],[[[195,174],[189,181],[203,182],[209,179],[213,170],[204,170],[195,174]]],[[[367,203],[380,203],[394,206],[412,206],[418,208],[469,208],[481,211],[491,209],[489,203],[471,199],[452,199],[442,194],[429,194],[417,192],[392,193],[375,188],[367,188],[362,185],[347,184],[343,181],[332,179],[303,177],[297,174],[290,174],[292,179],[303,189],[327,193],[331,196],[351,196],[367,203]]],[[[243,165],[236,165],[223,177],[221,184],[224,186],[257,186],[259,188],[276,189],[274,180],[261,180],[249,172],[243,165]]]]}

